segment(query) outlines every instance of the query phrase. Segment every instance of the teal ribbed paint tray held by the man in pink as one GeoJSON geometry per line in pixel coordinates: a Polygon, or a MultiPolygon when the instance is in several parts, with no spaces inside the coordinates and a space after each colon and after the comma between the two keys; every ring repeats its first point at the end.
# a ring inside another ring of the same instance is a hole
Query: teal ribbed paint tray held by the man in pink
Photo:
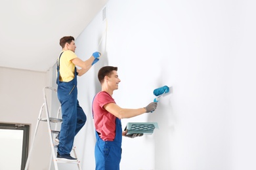
{"type": "Polygon", "coordinates": [[[127,129],[127,135],[134,133],[143,133],[144,135],[151,135],[154,129],[158,128],[157,122],[129,122],[125,127],[127,129]]]}

